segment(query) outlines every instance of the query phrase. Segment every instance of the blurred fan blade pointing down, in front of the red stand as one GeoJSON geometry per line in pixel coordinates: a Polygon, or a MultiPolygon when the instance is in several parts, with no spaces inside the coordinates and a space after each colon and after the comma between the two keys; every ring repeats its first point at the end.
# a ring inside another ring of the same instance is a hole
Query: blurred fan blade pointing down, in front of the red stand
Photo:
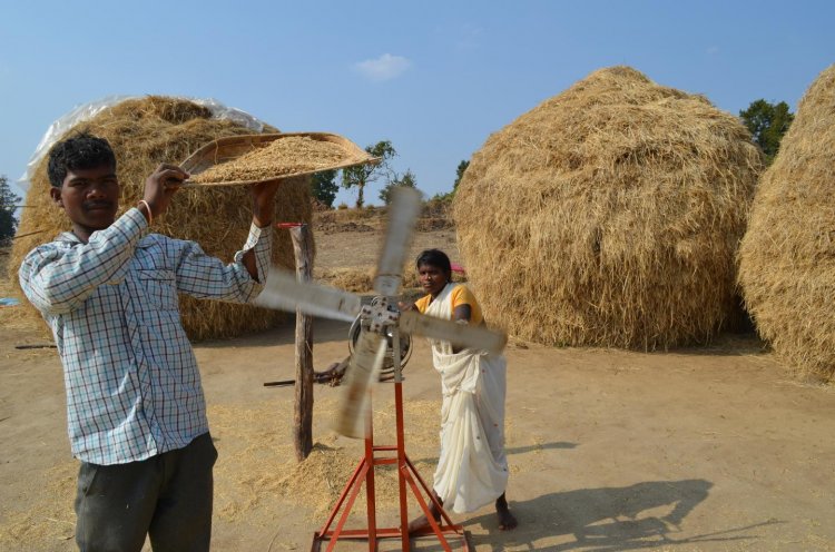
{"type": "Polygon", "coordinates": [[[363,438],[369,428],[370,387],[380,379],[387,345],[383,336],[362,332],[345,371],[345,391],[336,414],[334,430],[347,437],[363,438]]]}

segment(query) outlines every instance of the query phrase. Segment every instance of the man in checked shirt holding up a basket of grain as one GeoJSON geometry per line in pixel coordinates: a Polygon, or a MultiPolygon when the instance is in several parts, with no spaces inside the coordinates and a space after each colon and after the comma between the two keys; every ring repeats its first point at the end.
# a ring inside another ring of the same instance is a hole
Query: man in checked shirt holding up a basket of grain
{"type": "Polygon", "coordinates": [[[177,293],[238,303],[261,293],[277,183],[253,186],[249,237],[224,265],[193,241],[147,231],[186,178],[160,165],[116,218],[106,140],[80,134],[49,154],[50,196],[72,230],[29,253],[19,277],[63,364],[82,551],[139,551],[146,535],[156,552],[209,548],[217,451],[177,293]]]}

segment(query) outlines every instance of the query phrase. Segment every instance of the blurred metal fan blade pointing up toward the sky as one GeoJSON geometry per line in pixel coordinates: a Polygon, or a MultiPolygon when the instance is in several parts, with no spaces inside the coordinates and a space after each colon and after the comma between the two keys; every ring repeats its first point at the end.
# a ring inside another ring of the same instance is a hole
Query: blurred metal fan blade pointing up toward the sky
{"type": "Polygon", "coordinates": [[[397,295],[412,231],[421,209],[421,194],[413,188],[394,188],[389,206],[389,226],[380,255],[374,289],[383,296],[397,295]]]}

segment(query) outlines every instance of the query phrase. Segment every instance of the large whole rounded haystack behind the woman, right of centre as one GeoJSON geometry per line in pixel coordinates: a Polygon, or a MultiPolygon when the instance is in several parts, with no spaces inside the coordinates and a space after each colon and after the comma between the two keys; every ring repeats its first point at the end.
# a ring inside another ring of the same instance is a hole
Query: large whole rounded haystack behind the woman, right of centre
{"type": "Polygon", "coordinates": [[[453,213],[489,323],[549,345],[708,341],[736,312],[735,255],[762,154],[734,116],[628,67],[492,135],[453,213]]]}

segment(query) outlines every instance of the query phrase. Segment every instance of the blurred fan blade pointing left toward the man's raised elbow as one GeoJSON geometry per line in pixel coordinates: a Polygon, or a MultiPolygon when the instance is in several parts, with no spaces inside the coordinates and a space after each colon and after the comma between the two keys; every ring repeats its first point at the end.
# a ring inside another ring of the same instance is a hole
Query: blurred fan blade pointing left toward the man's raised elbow
{"type": "Polygon", "coordinates": [[[256,297],[255,305],[279,310],[295,312],[296,308],[312,316],[352,322],[360,309],[360,296],[321,286],[301,283],[294,273],[272,267],[264,290],[256,297]]]}

